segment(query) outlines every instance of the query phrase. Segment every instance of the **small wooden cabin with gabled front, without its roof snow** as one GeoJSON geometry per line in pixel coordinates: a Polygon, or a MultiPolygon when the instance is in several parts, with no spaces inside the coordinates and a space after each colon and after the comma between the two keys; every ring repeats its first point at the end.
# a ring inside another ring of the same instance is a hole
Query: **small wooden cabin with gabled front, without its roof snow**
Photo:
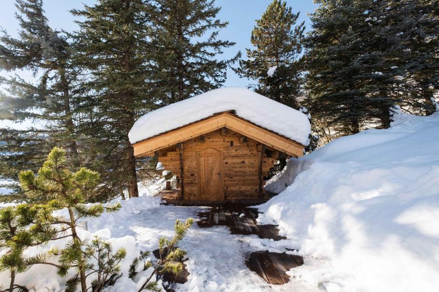
{"type": "Polygon", "coordinates": [[[264,177],[279,157],[299,157],[304,146],[239,117],[210,115],[133,144],[134,154],[158,157],[177,176],[178,199],[235,201],[265,196],[264,177]]]}

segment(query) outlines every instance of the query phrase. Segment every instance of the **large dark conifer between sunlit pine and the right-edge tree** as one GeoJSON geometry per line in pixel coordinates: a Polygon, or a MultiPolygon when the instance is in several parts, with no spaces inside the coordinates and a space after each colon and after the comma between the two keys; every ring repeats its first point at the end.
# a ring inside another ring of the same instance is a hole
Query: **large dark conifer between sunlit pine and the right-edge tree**
{"type": "MultiPolygon", "coordinates": [[[[390,124],[399,100],[396,70],[387,58],[399,46],[395,27],[379,25],[374,1],[319,1],[306,38],[307,108],[321,136],[349,135],[390,124]]],[[[329,138],[330,139],[330,138],[329,138]]]]}

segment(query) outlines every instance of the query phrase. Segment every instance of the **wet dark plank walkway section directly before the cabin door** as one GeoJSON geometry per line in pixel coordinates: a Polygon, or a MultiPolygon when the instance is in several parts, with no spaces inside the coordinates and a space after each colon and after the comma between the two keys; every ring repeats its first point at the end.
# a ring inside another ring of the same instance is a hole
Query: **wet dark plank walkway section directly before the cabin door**
{"type": "Polygon", "coordinates": [[[279,235],[275,225],[257,224],[258,211],[248,208],[249,205],[240,202],[215,205],[208,212],[201,212],[199,214],[201,218],[205,219],[198,221],[198,226],[205,228],[214,225],[224,225],[229,227],[232,234],[256,234],[259,238],[285,239],[285,237],[279,235]]]}

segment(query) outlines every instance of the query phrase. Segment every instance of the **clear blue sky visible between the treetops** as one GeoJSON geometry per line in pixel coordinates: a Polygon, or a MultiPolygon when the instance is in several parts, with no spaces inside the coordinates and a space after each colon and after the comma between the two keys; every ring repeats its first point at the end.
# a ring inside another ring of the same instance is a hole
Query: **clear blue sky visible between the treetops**
{"type": "MultiPolygon", "coordinates": [[[[230,58],[240,50],[245,54],[245,48],[251,48],[250,36],[255,25],[255,19],[260,18],[272,0],[216,0],[216,4],[222,9],[219,14],[221,20],[229,21],[229,25],[220,31],[220,38],[236,42],[232,48],[224,50],[224,58],[230,58]]],[[[14,17],[16,8],[14,0],[1,0],[0,26],[14,36],[18,29],[17,20],[14,17]]],[[[95,0],[43,0],[46,17],[50,25],[57,29],[73,31],[77,28],[73,22],[74,17],[68,12],[72,8],[81,8],[82,3],[93,5],[95,0]]],[[[299,21],[305,21],[307,29],[310,28],[307,14],[317,7],[312,0],[287,0],[294,12],[300,11],[299,21]]],[[[20,73],[22,77],[29,75],[20,73]]],[[[4,73],[2,73],[4,75],[4,73]]],[[[30,77],[30,75],[29,75],[30,77]]],[[[247,86],[245,78],[239,78],[233,71],[227,73],[225,86],[247,86]]]]}

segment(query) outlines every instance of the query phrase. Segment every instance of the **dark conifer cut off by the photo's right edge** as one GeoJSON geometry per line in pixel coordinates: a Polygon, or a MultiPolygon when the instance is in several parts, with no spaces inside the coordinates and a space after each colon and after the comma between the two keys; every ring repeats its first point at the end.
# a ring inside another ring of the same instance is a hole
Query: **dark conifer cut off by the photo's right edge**
{"type": "Polygon", "coordinates": [[[434,92],[439,90],[439,6],[431,0],[388,2],[404,48],[396,64],[403,79],[402,106],[412,113],[432,114],[434,92]]]}

